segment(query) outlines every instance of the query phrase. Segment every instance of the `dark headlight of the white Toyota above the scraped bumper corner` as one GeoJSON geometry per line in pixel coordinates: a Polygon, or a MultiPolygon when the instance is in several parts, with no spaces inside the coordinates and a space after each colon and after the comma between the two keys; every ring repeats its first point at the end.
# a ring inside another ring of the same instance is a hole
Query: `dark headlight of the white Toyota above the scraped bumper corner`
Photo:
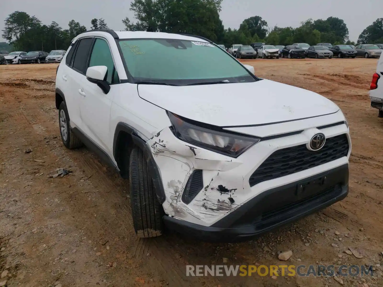
{"type": "Polygon", "coordinates": [[[196,126],[170,112],[168,112],[168,116],[172,123],[172,132],[178,139],[229,157],[239,157],[260,141],[257,137],[223,131],[215,126],[210,128],[207,125],[205,127],[196,126]]]}

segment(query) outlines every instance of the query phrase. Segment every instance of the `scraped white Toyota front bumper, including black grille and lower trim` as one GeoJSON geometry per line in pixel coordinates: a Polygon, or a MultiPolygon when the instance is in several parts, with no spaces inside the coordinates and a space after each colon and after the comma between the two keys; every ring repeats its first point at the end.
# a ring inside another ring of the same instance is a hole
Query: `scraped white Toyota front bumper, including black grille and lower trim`
{"type": "Polygon", "coordinates": [[[262,138],[238,158],[183,142],[170,128],[162,130],[147,143],[164,187],[162,206],[169,215],[165,223],[207,239],[234,240],[343,199],[348,192],[351,151],[344,121],[339,111],[294,122],[233,128],[262,138]],[[275,134],[270,135],[271,130],[275,134]],[[318,132],[326,136],[326,143],[321,150],[310,151],[306,144],[318,132]]]}

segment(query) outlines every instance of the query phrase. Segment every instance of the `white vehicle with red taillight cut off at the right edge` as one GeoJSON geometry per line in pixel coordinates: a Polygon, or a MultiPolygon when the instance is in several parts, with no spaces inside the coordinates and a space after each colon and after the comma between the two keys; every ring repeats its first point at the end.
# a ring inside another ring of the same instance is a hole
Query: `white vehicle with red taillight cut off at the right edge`
{"type": "Polygon", "coordinates": [[[383,53],[380,55],[376,72],[372,76],[370,85],[371,106],[378,109],[378,117],[383,117],[383,79],[381,78],[383,78],[383,53]]]}

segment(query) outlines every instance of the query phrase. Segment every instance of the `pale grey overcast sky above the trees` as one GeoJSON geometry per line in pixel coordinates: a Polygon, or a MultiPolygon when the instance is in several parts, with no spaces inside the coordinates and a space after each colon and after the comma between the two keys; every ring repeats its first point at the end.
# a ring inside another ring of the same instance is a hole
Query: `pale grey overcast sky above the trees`
{"type": "MultiPolygon", "coordinates": [[[[44,24],[56,21],[64,29],[70,20],[80,22],[88,29],[90,20],[104,18],[109,28],[123,30],[121,22],[126,16],[133,20],[133,12],[129,11],[129,0],[0,0],[0,30],[4,29],[4,19],[13,11],[24,11],[35,15],[44,24]]],[[[343,19],[349,28],[350,40],[357,41],[359,34],[377,18],[383,17],[383,1],[310,1],[291,2],[286,0],[223,0],[221,19],[225,28],[239,28],[246,18],[259,15],[270,27],[291,26],[296,28],[300,22],[329,16],[343,19]]],[[[0,34],[2,34],[1,32],[0,34]]],[[[0,41],[4,41],[0,36],[0,41]]]]}

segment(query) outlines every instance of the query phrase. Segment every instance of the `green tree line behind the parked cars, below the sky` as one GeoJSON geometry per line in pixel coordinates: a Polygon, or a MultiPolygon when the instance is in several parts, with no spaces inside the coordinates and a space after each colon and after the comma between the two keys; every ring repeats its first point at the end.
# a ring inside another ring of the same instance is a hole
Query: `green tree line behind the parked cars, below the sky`
{"type": "MultiPolygon", "coordinates": [[[[260,16],[245,19],[239,29],[225,29],[219,17],[222,0],[134,0],[130,10],[136,22],[128,17],[122,20],[126,31],[153,31],[194,34],[208,38],[226,47],[232,44],[265,42],[272,45],[288,45],[305,42],[332,44],[355,44],[349,40],[349,30],[342,19],[329,17],[308,19],[298,28],[270,27],[260,16]]],[[[106,29],[103,18],[90,21],[90,29],[106,29]]],[[[5,19],[3,38],[13,49],[21,51],[67,49],[72,39],[87,28],[75,20],[63,29],[52,21],[46,25],[36,16],[15,11],[5,19]]],[[[377,19],[365,28],[358,43],[383,42],[383,18],[377,19]]]]}

